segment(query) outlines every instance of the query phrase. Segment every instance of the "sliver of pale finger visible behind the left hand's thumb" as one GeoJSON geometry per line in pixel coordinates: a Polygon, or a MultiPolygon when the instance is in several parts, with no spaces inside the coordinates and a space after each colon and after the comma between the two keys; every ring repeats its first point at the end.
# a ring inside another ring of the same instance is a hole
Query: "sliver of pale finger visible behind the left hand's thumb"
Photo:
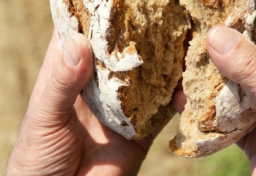
{"type": "Polygon", "coordinates": [[[35,102],[38,101],[38,98],[41,96],[44,88],[48,82],[50,74],[52,72],[53,65],[56,60],[61,56],[61,52],[58,46],[58,40],[56,37],[55,30],[53,30],[52,38],[49,43],[46,55],[44,57],[44,62],[41,66],[41,69],[38,73],[35,86],[33,88],[32,94],[29,99],[29,107],[35,105],[35,102]]]}

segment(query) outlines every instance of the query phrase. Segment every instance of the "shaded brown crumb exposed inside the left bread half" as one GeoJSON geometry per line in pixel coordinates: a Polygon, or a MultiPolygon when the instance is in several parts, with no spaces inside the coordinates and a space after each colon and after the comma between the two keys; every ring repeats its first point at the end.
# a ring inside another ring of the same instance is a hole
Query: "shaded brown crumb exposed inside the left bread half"
{"type": "Polygon", "coordinates": [[[157,112],[166,111],[160,108],[169,104],[181,77],[188,17],[174,0],[124,0],[123,7],[125,37],[136,43],[144,63],[128,73],[135,74],[134,82],[121,92],[126,115],[143,133],[167,118],[157,112]]]}

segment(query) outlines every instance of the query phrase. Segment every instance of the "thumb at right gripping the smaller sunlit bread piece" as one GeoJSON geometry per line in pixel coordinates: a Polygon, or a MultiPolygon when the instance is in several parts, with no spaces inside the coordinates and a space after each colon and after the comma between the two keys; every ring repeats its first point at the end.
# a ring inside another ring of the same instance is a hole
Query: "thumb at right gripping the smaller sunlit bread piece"
{"type": "Polygon", "coordinates": [[[256,96],[256,46],[235,29],[223,25],[208,32],[206,43],[218,70],[256,96]]]}

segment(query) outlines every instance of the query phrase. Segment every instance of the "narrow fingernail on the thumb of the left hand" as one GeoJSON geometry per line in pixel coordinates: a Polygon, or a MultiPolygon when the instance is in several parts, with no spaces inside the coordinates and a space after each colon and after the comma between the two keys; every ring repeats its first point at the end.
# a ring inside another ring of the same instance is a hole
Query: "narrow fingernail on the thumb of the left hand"
{"type": "Polygon", "coordinates": [[[65,60],[71,66],[76,66],[80,61],[80,54],[77,47],[76,39],[74,37],[71,37],[69,42],[67,43],[65,60]]]}

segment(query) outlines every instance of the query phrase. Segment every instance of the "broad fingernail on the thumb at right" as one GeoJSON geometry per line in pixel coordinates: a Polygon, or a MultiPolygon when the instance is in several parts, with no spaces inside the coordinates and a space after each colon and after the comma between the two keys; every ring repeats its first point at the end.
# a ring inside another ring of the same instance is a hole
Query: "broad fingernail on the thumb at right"
{"type": "Polygon", "coordinates": [[[226,26],[219,26],[210,34],[210,45],[222,55],[228,54],[239,43],[239,37],[226,26]]]}

